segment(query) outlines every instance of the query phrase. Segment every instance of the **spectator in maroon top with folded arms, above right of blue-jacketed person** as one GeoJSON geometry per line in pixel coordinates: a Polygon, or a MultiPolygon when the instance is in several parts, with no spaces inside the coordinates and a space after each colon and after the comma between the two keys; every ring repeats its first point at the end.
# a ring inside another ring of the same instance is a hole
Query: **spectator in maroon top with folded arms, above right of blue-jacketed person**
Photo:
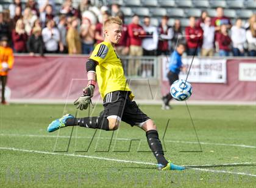
{"type": "Polygon", "coordinates": [[[196,27],[196,18],[190,17],[190,26],[185,28],[188,52],[187,55],[198,55],[202,47],[202,28],[196,27]]]}

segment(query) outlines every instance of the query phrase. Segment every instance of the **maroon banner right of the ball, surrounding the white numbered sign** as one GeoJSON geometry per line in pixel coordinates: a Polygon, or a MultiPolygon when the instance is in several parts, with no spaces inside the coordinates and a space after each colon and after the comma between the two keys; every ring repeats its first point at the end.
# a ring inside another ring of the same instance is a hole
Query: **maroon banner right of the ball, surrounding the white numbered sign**
{"type": "MultiPolygon", "coordinates": [[[[202,62],[203,63],[203,62],[202,62]]],[[[256,64],[255,59],[227,59],[226,83],[196,83],[191,82],[193,94],[191,100],[213,101],[256,101],[256,82],[240,81],[240,63],[256,64]]],[[[251,73],[252,76],[255,73],[251,73]]],[[[162,81],[162,93],[169,92],[169,82],[162,81]]]]}

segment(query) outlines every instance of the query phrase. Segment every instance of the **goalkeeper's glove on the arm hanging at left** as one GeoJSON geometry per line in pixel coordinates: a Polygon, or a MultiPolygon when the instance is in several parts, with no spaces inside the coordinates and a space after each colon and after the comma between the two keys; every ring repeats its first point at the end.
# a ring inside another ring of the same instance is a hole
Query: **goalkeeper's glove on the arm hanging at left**
{"type": "Polygon", "coordinates": [[[76,101],[74,101],[74,105],[77,109],[86,110],[88,106],[91,104],[91,98],[93,97],[94,85],[88,85],[83,88],[84,95],[80,96],[76,101]]]}

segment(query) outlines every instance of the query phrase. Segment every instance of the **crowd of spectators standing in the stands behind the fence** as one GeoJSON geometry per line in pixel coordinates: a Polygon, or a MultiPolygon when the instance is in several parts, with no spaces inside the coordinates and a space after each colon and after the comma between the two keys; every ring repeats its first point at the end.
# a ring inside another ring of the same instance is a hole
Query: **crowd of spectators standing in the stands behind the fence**
{"type": "MultiPolygon", "coordinates": [[[[170,27],[168,15],[162,17],[158,27],[151,25],[149,16],[140,24],[139,16],[133,15],[132,21],[123,25],[116,52],[131,56],[169,55],[179,41],[187,45],[187,55],[256,56],[256,15],[246,24],[238,18],[233,25],[224,16],[223,8],[216,8],[216,15],[210,18],[202,11],[201,18],[190,17],[185,30],[179,19],[170,27]]],[[[53,0],[27,0],[26,7],[14,0],[9,9],[0,12],[0,38],[7,36],[16,53],[90,54],[94,45],[104,40],[102,25],[108,16],[124,21],[118,4],[98,8],[90,0],[81,0],[74,8],[72,0],[65,0],[56,10],[53,0]]],[[[136,67],[139,62],[129,65],[136,67]]],[[[137,69],[128,70],[132,75],[137,69]]]]}

